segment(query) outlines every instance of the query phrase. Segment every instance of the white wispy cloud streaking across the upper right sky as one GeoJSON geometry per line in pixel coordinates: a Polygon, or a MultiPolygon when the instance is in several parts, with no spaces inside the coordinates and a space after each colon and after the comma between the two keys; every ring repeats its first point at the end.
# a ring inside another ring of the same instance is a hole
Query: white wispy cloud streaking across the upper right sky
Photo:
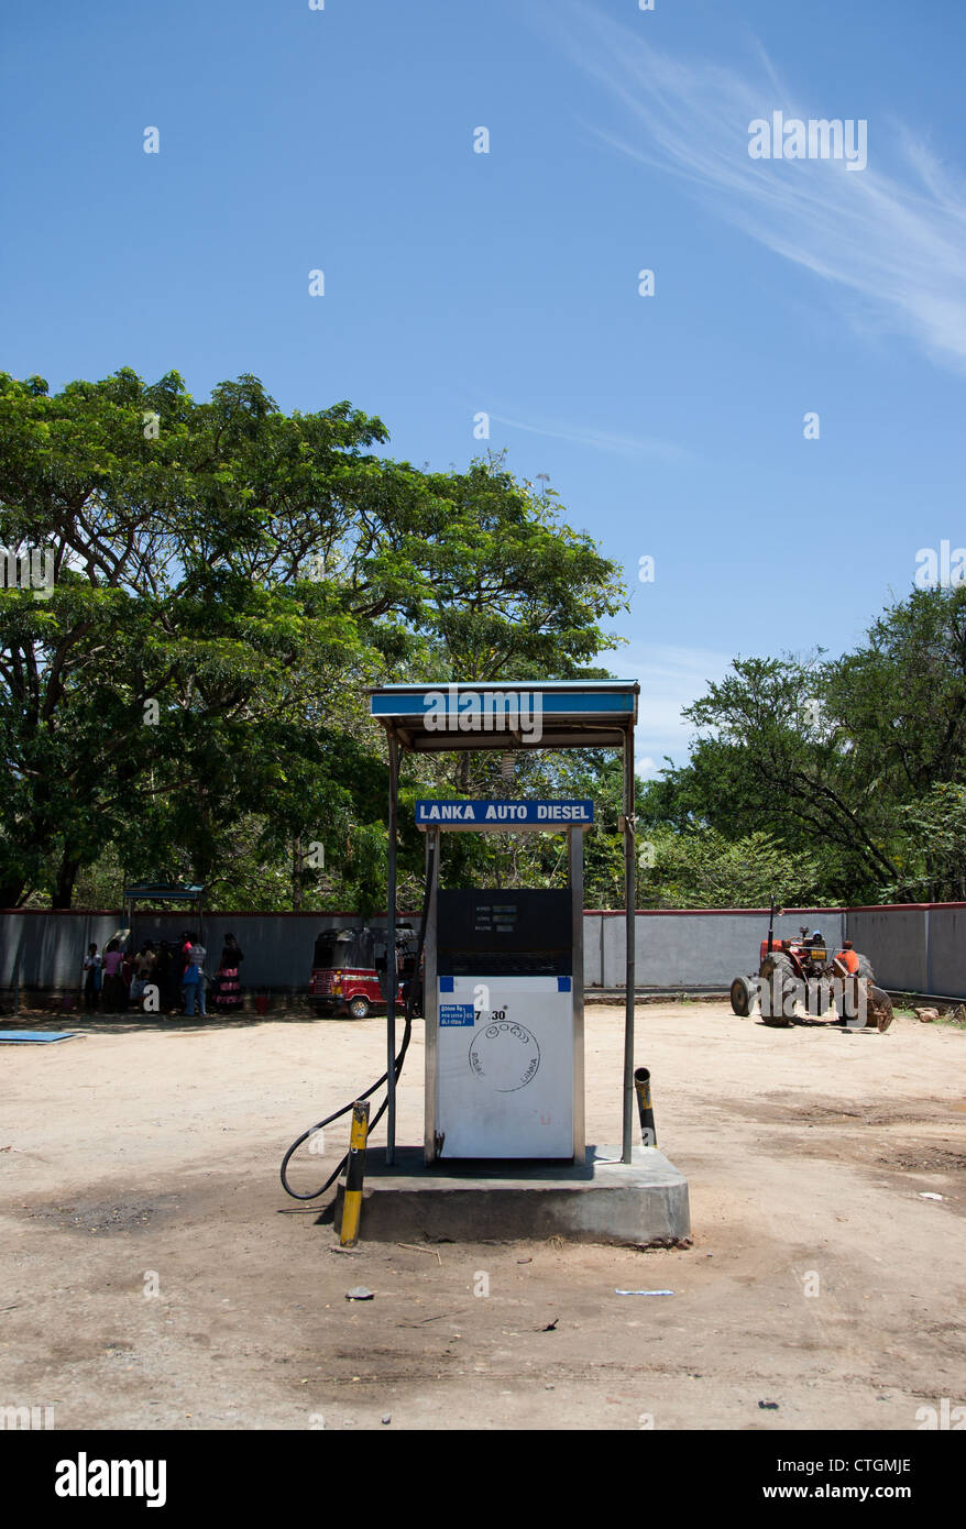
{"type": "Polygon", "coordinates": [[[621,130],[595,124],[599,138],[688,182],[767,249],[856,294],[880,327],[966,370],[966,188],[908,127],[870,121],[861,171],[750,159],[757,118],[857,119],[861,101],[802,104],[761,47],[744,72],[677,60],[573,0],[555,0],[552,26],[621,109],[621,130]]]}

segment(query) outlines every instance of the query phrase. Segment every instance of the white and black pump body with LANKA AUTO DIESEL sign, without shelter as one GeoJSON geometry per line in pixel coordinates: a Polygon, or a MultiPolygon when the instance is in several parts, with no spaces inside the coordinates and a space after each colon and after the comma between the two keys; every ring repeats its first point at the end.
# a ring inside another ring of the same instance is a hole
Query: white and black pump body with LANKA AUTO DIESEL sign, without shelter
{"type": "Polygon", "coordinates": [[[423,1156],[584,1162],[590,801],[417,801],[426,833],[423,1156]],[[459,815],[455,815],[459,813],[459,815]],[[569,887],[440,887],[445,830],[567,835],[569,887]]]}

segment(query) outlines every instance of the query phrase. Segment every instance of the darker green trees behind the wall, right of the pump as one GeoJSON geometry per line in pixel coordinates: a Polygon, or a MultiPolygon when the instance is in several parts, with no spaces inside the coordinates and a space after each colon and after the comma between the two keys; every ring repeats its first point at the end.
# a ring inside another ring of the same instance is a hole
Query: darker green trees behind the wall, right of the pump
{"type": "Polygon", "coordinates": [[[812,865],[799,898],[966,896],[964,586],[914,589],[835,661],[735,659],[685,716],[699,737],[642,792],[651,829],[766,835],[812,865]]]}

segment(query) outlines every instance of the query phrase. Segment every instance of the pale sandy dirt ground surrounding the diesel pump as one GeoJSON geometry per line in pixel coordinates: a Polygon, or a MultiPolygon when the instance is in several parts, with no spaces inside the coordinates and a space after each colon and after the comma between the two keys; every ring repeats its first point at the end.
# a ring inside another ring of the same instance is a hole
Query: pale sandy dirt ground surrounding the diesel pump
{"type": "MultiPolygon", "coordinates": [[[[592,1142],[619,1141],[622,1024],[587,1011],[592,1142]]],[[[278,1162],[379,1075],[384,1020],[76,1027],[0,1049],[0,1405],[95,1430],[916,1430],[966,1402],[964,1032],[642,1006],[691,1248],[344,1254],[278,1162]],[[674,1295],[614,1294],[642,1287],[674,1295]]],[[[417,1023],[399,1142],[422,1141],[422,1052],[417,1023]]]]}

